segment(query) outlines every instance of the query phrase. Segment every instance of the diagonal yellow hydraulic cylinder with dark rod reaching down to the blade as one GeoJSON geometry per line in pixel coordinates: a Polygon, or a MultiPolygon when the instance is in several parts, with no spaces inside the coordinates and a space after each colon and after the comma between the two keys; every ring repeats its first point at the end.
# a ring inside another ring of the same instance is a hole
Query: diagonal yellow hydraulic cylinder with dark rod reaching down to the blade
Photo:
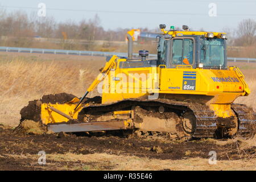
{"type": "Polygon", "coordinates": [[[93,91],[94,88],[102,81],[104,78],[108,75],[108,72],[110,68],[112,68],[112,65],[115,63],[115,59],[117,59],[117,56],[113,55],[112,58],[105,64],[105,67],[102,69],[101,73],[98,74],[97,78],[92,82],[92,84],[89,86],[87,91],[85,92],[84,96],[81,98],[79,103],[76,105],[76,108],[81,104],[81,102],[84,100],[84,98],[87,96],[87,94],[91,91],[93,91]]]}

